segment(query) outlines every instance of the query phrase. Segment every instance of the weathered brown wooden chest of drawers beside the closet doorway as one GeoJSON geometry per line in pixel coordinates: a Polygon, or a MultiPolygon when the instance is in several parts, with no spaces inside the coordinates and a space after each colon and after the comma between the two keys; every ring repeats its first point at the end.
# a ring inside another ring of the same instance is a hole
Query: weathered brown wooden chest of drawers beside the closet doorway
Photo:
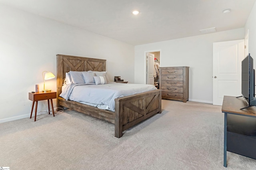
{"type": "Polygon", "coordinates": [[[188,66],[159,67],[159,88],[162,99],[188,101],[188,66]]]}

